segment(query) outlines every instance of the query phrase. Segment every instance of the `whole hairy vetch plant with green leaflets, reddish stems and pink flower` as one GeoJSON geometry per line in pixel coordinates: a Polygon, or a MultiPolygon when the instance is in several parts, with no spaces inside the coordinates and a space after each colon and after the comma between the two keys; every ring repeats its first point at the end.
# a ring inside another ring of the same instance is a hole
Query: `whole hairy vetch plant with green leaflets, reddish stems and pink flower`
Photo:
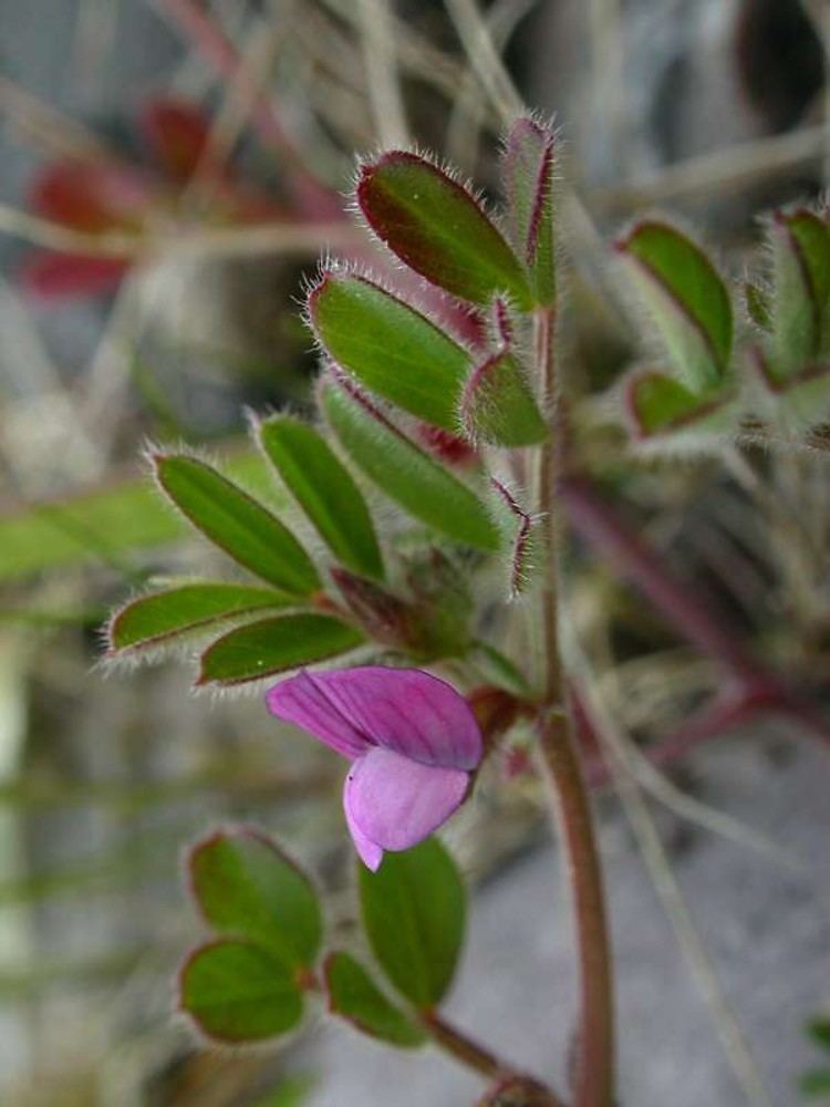
{"type": "MultiPolygon", "coordinates": [[[[421,154],[360,166],[362,219],[422,278],[430,307],[371,272],[322,267],[308,292],[321,355],[315,420],[255,420],[260,463],[241,480],[188,451],[151,453],[163,496],[237,571],[132,599],[108,637],[115,659],[197,648],[197,684],[263,690],[273,715],[351,762],[345,820],[375,964],[360,948],[332,948],[313,881],[281,848],[250,828],[219,831],[190,855],[212,937],[179,987],[205,1034],[277,1037],[322,994],[333,1016],[390,1045],[449,1051],[486,1078],[483,1104],[610,1107],[611,958],[578,745],[590,726],[560,648],[564,508],[728,671],[720,721],[726,707],[766,705],[821,727],[569,472],[554,155],[548,126],[513,124],[498,218],[421,154]],[[446,318],[436,290],[453,306],[446,318]],[[517,720],[532,730],[551,786],[574,910],[580,1011],[564,1090],[516,1072],[439,1011],[465,891],[434,832],[475,801],[483,757],[517,720]]],[[[633,456],[720,455],[747,438],[812,433],[830,399],[830,234],[822,215],[799,209],[770,236],[771,272],[748,286],[746,320],[706,252],[672,224],[651,218],[619,241],[653,338],[653,360],[603,408],[633,456]]]]}

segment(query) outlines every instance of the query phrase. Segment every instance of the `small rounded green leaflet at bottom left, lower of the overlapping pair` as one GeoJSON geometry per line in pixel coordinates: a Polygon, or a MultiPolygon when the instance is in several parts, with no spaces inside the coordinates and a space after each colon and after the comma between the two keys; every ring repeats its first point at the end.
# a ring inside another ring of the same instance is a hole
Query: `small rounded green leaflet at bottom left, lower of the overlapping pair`
{"type": "Polygon", "coordinates": [[[208,1037],[228,1044],[287,1034],[302,1018],[291,971],[261,946],[227,939],[200,945],[187,959],[179,1005],[208,1037]]]}

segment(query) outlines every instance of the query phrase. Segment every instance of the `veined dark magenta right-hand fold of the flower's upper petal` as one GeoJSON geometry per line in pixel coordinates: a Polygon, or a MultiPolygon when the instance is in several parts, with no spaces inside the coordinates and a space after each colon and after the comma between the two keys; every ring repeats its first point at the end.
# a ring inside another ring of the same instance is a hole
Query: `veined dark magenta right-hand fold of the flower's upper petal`
{"type": "Polygon", "coordinates": [[[314,683],[378,746],[445,768],[473,769],[481,759],[475,715],[464,696],[437,676],[419,669],[367,665],[315,673],[314,683]]]}

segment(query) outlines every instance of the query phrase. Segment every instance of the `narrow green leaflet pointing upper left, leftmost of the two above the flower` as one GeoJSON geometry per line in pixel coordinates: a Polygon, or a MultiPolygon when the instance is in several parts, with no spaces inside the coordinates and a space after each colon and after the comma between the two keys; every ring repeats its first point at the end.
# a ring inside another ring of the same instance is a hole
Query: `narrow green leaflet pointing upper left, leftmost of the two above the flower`
{"type": "Polygon", "coordinates": [[[235,561],[291,596],[320,588],[317,569],[291,531],[238,485],[185,454],[159,454],[154,463],[170,500],[235,561]]]}

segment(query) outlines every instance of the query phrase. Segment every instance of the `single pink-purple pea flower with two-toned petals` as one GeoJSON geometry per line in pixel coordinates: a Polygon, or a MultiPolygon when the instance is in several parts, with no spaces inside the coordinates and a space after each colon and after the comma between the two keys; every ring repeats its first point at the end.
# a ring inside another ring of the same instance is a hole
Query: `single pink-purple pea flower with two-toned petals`
{"type": "Polygon", "coordinates": [[[274,685],[268,710],[347,757],[343,807],[374,872],[383,851],[408,849],[460,806],[481,761],[467,701],[418,669],[307,670],[274,685]]]}

